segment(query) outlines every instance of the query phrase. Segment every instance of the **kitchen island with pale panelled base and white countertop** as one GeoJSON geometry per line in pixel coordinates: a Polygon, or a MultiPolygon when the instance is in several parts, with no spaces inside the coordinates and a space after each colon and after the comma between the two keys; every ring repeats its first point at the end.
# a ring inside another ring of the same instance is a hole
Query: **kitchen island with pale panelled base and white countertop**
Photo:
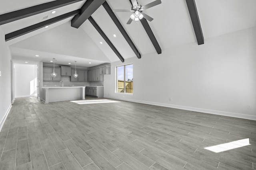
{"type": "Polygon", "coordinates": [[[85,100],[85,86],[42,87],[43,102],[60,102],[68,100],[85,100]]]}

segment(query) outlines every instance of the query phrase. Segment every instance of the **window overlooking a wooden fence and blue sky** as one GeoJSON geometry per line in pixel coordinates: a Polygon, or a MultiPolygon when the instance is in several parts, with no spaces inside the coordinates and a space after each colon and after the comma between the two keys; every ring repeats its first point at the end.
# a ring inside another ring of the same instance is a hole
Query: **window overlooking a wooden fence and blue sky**
{"type": "Polygon", "coordinates": [[[133,64],[116,67],[116,92],[133,93],[133,64]]]}

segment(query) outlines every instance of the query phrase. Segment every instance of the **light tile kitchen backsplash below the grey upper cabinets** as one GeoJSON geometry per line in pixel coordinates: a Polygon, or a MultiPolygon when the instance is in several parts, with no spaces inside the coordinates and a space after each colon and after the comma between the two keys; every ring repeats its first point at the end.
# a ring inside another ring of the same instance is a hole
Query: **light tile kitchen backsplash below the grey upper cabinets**
{"type": "MultiPolygon", "coordinates": [[[[60,82],[43,82],[44,87],[61,86],[63,81],[64,86],[90,86],[90,82],[70,82],[70,76],[61,76],[60,82]]],[[[103,84],[103,83],[102,83],[103,84]]]]}

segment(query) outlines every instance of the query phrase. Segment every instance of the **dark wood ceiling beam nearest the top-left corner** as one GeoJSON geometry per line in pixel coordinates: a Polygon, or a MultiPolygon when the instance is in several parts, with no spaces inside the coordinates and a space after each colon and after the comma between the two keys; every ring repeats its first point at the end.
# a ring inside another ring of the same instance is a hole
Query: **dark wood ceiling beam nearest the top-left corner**
{"type": "Polygon", "coordinates": [[[52,2],[47,2],[44,4],[24,8],[22,10],[17,10],[17,11],[9,12],[6,14],[2,14],[0,15],[0,25],[9,23],[12,21],[20,20],[22,18],[26,18],[36,14],[40,14],[42,12],[46,12],[49,10],[54,10],[56,8],[60,8],[62,6],[73,4],[79,1],[82,1],[82,0],[55,0],[52,2]]]}

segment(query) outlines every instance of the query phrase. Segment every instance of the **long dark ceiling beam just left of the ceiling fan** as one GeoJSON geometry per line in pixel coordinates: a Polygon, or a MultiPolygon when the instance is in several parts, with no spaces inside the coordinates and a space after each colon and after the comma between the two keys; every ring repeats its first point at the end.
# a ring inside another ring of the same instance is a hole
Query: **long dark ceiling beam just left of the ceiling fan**
{"type": "Polygon", "coordinates": [[[130,39],[129,35],[126,33],[124,27],[122,26],[122,24],[120,23],[120,21],[117,19],[116,15],[114,14],[114,12],[112,11],[112,9],[110,8],[110,6],[108,5],[107,2],[104,2],[102,4],[102,6],[105,8],[105,10],[108,12],[108,15],[110,16],[110,18],[114,21],[114,23],[116,24],[116,26],[118,27],[119,31],[122,33],[122,35],[124,36],[124,39],[127,41],[127,43],[130,45],[130,47],[132,48],[132,51],[134,51],[135,55],[138,57],[138,59],[141,58],[140,52],[138,51],[138,49],[136,48],[136,46],[134,45],[134,43],[132,42],[132,40],[130,39]]]}

